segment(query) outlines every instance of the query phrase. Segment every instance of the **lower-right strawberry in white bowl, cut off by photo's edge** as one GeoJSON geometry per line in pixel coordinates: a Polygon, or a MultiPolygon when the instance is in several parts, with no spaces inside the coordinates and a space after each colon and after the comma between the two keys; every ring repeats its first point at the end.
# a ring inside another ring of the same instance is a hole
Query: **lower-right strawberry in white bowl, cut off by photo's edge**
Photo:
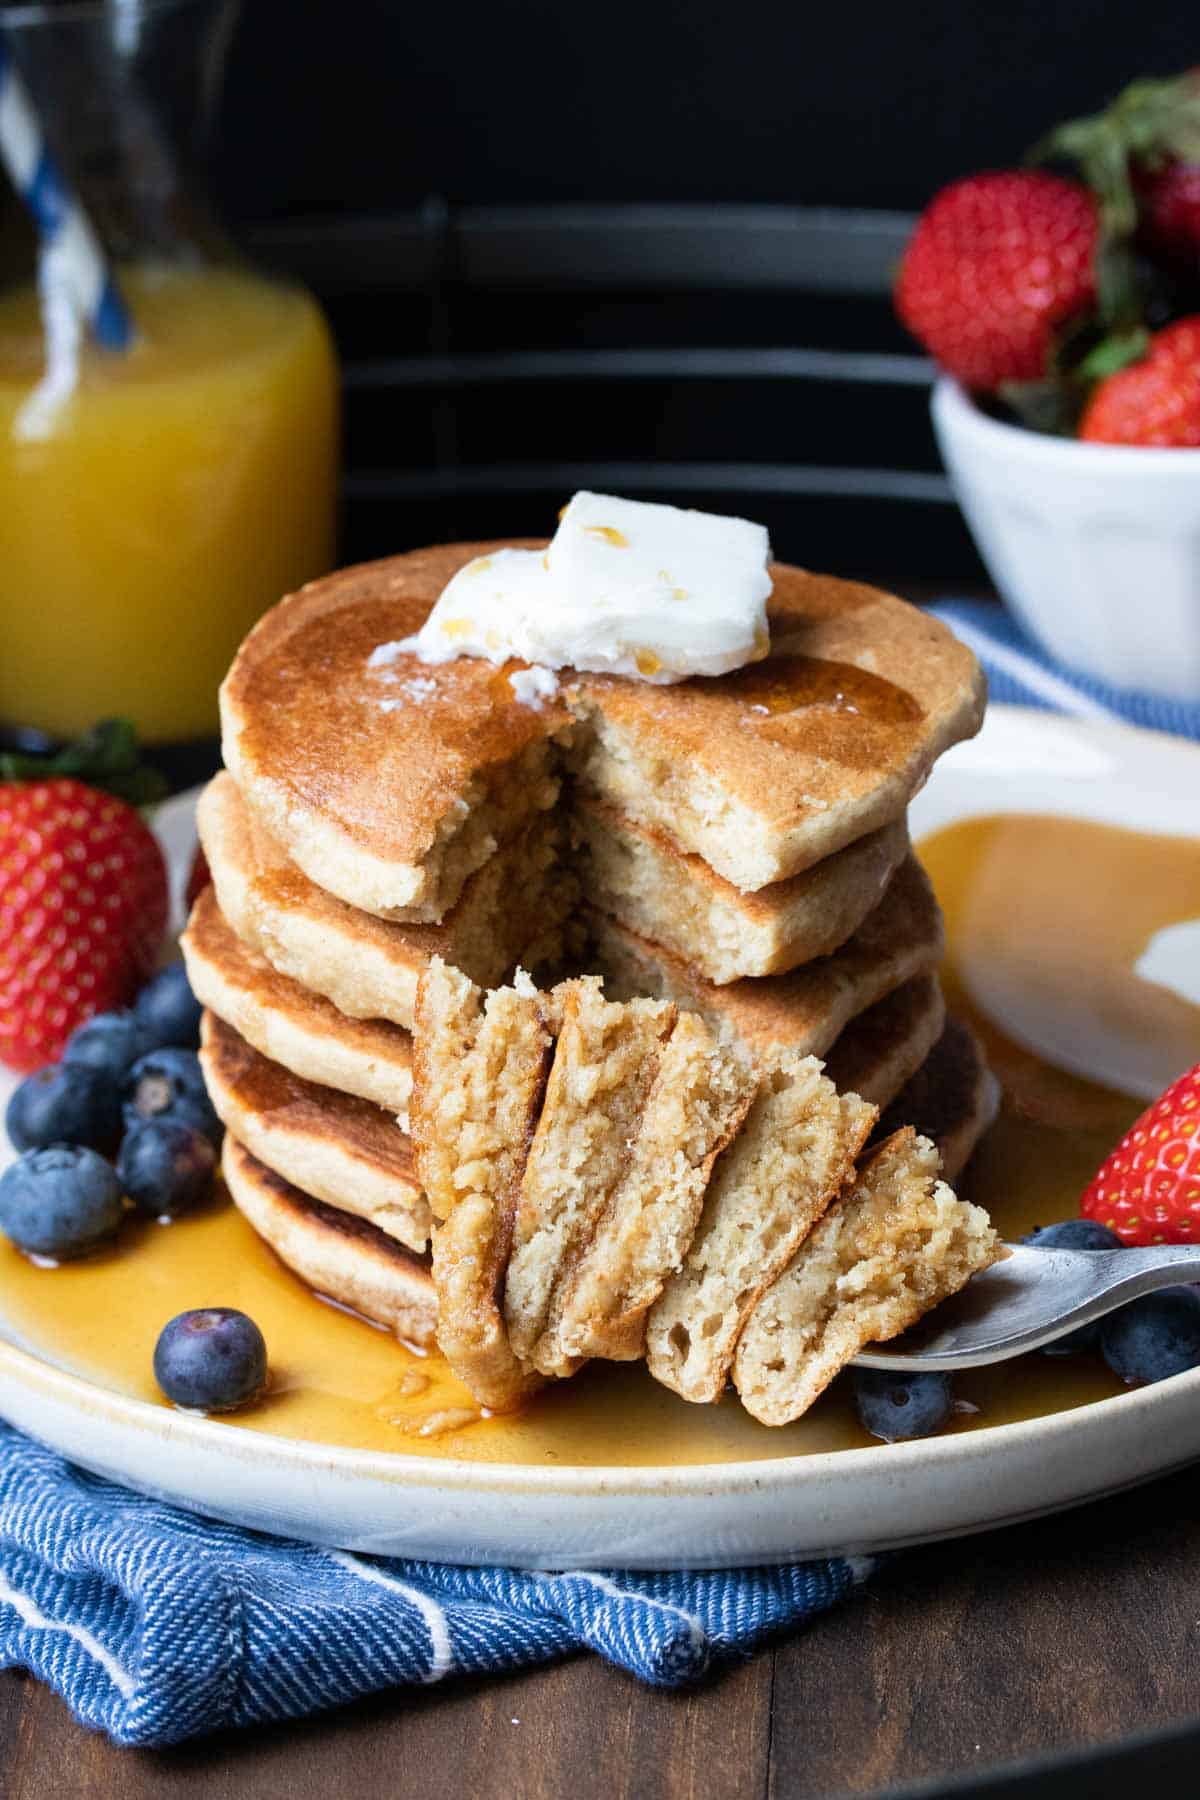
{"type": "Polygon", "coordinates": [[[1200,446],[1200,313],[1157,331],[1142,362],[1099,383],[1079,437],[1097,445],[1200,446]]]}

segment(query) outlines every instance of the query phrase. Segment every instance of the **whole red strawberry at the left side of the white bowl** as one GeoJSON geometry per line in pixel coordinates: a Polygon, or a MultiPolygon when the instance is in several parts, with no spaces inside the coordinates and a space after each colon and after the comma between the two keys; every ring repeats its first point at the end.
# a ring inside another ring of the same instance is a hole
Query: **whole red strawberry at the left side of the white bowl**
{"type": "Polygon", "coordinates": [[[909,241],[896,310],[972,389],[1049,373],[1056,328],[1094,299],[1096,200],[1058,175],[972,175],[930,202],[909,241]]]}

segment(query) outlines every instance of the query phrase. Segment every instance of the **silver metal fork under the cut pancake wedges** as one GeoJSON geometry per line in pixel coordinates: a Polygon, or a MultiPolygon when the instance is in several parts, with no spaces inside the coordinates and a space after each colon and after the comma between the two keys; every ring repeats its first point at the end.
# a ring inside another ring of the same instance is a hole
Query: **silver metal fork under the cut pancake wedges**
{"type": "Polygon", "coordinates": [[[1200,1246],[1036,1249],[1006,1244],[1002,1262],[973,1276],[914,1330],[855,1357],[858,1368],[950,1370],[1004,1363],[1090,1325],[1139,1294],[1200,1282],[1200,1246]]]}

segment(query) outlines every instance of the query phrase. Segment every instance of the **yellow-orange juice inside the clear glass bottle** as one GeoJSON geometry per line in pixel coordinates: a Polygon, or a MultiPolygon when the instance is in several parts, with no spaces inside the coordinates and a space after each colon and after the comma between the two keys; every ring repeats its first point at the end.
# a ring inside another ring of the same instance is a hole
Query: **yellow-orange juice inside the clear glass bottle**
{"type": "Polygon", "coordinates": [[[83,353],[41,437],[31,290],[0,299],[0,724],[216,729],[254,619],[333,565],[336,367],[299,288],[237,268],[128,268],[128,355],[83,353]]]}

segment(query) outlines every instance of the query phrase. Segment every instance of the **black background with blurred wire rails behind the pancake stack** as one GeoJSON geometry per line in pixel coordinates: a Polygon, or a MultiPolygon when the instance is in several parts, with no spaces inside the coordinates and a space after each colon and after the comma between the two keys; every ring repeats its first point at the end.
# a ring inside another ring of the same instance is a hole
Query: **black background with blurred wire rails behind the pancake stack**
{"type": "Polygon", "coordinates": [[[594,486],[979,585],[891,313],[910,214],[1198,43],[1178,0],[246,0],[216,189],[333,319],[344,556],[549,531],[594,486]]]}

